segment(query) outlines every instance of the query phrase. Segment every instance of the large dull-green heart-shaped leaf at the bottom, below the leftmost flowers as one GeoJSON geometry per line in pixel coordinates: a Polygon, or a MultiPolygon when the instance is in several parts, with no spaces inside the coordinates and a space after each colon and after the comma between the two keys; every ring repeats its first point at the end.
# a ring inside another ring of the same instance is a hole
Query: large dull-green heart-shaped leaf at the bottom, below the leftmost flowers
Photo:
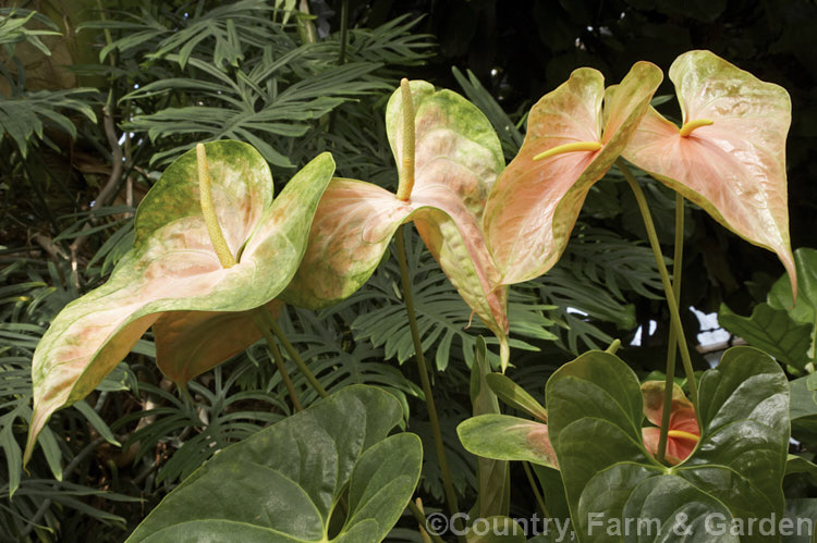
{"type": "Polygon", "coordinates": [[[136,528],[142,541],[382,541],[420,472],[419,439],[387,437],[402,417],[389,393],[352,385],[216,455],[136,528]],[[330,517],[343,526],[329,538],[330,517]]]}

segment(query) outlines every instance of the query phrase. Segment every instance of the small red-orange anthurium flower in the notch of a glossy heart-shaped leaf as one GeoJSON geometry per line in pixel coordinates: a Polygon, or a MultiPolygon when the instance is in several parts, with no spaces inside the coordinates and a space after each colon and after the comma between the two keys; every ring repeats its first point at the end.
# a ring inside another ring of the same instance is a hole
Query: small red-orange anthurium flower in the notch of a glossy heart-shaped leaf
{"type": "MultiPolygon", "coordinates": [[[[653,455],[658,454],[661,416],[663,415],[663,381],[647,381],[642,385],[644,416],[657,427],[642,429],[644,446],[653,455]]],[[[698,440],[700,440],[700,430],[698,429],[698,420],[695,417],[695,408],[692,402],[686,399],[681,387],[673,384],[664,458],[672,466],[681,464],[695,449],[698,440]]]]}

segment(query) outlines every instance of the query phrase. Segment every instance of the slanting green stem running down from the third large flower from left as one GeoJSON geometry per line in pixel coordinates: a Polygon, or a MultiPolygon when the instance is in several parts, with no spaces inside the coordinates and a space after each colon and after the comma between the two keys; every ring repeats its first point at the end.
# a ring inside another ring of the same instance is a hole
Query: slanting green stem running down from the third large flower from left
{"type": "Polygon", "coordinates": [[[642,213],[644,220],[644,226],[647,230],[647,237],[649,238],[649,245],[653,248],[653,256],[656,259],[658,266],[658,273],[661,274],[661,283],[663,284],[663,293],[667,296],[667,305],[670,308],[670,323],[675,330],[675,337],[678,337],[678,346],[681,350],[681,361],[684,365],[684,372],[686,373],[686,381],[690,383],[690,396],[692,403],[695,406],[695,412],[698,410],[698,386],[695,384],[695,372],[692,368],[692,359],[690,358],[690,348],[686,345],[684,336],[684,329],[681,324],[681,313],[678,310],[678,303],[675,301],[675,295],[672,289],[672,283],[670,282],[670,274],[667,271],[667,264],[663,263],[663,255],[661,254],[661,246],[658,244],[658,234],[656,233],[656,226],[653,223],[653,215],[649,213],[649,207],[647,206],[647,199],[644,197],[644,192],[638,185],[638,182],[633,176],[633,172],[626,166],[623,160],[615,160],[615,164],[624,174],[624,178],[627,180],[630,188],[635,195],[635,200],[638,202],[638,210],[642,213]]]}

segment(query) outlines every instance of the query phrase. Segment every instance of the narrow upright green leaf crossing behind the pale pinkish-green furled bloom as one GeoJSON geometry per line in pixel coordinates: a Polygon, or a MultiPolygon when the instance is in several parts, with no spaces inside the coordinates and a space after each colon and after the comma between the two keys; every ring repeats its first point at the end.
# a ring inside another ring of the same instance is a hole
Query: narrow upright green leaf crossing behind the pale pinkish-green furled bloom
{"type": "MultiPolygon", "coordinates": [[[[477,337],[474,363],[471,366],[471,405],[472,415],[499,415],[497,395],[488,387],[486,378],[490,366],[486,360],[485,340],[477,337]]],[[[477,458],[477,505],[479,517],[508,515],[511,507],[511,470],[505,460],[477,458]]]]}

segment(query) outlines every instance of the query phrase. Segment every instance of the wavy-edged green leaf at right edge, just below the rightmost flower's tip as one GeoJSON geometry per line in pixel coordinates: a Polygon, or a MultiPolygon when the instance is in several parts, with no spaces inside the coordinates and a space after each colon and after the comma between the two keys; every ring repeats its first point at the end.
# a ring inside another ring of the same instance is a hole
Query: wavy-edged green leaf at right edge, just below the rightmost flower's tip
{"type": "Polygon", "coordinates": [[[752,317],[741,317],[721,304],[718,323],[783,363],[801,371],[808,363],[813,326],[793,320],[785,309],[758,304],[752,317]]]}

